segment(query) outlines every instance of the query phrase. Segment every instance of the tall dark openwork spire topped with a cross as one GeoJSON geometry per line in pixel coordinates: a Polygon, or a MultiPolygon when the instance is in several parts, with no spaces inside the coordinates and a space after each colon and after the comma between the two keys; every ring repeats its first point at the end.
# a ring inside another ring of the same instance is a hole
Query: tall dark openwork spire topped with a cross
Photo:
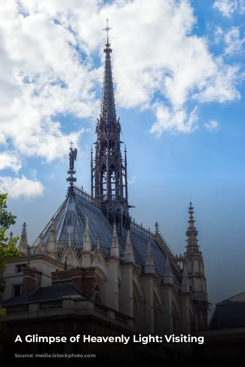
{"type": "Polygon", "coordinates": [[[111,45],[108,32],[105,43],[104,80],[101,111],[97,120],[95,159],[91,152],[91,196],[101,202],[102,211],[111,225],[116,224],[118,232],[125,237],[130,228],[127,198],[127,161],[121,150],[121,124],[117,118],[111,67],[111,45]]]}

